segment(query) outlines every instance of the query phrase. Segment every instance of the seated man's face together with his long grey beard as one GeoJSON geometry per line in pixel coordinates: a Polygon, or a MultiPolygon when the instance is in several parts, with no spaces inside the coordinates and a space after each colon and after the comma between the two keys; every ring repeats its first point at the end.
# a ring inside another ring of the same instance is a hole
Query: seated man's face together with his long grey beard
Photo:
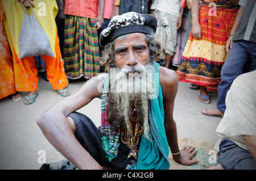
{"type": "Polygon", "coordinates": [[[114,40],[116,67],[110,70],[110,92],[106,104],[111,129],[115,131],[125,123],[127,137],[130,136],[131,106],[143,125],[143,134],[150,140],[148,109],[158,87],[155,85],[154,64],[150,64],[150,51],[144,33],[130,33],[114,40]]]}

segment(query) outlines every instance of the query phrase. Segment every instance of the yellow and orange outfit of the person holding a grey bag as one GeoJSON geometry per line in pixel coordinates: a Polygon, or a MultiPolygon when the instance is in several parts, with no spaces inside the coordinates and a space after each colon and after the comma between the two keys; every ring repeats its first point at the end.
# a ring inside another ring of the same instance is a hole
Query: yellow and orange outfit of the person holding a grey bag
{"type": "MultiPolygon", "coordinates": [[[[63,59],[61,57],[59,37],[57,36],[57,27],[55,23],[56,1],[46,1],[47,16],[39,16],[38,8],[40,1],[34,1],[35,7],[32,8],[36,19],[42,27],[46,28],[46,33],[49,35],[52,47],[56,57],[41,55],[46,63],[46,71],[49,82],[54,90],[64,89],[68,86],[68,79],[65,75],[63,59]],[[54,3],[55,2],[55,3],[54,3]]],[[[13,56],[15,89],[16,91],[27,92],[36,91],[38,89],[38,69],[35,66],[35,57],[19,58],[19,47],[17,47],[17,35],[15,32],[20,30],[20,22],[24,14],[24,7],[16,1],[2,1],[6,12],[6,18],[3,19],[5,24],[6,34],[9,40],[11,53],[13,56]],[[13,9],[13,10],[12,10],[13,9]]],[[[29,42],[28,42],[29,43],[29,42]]]]}

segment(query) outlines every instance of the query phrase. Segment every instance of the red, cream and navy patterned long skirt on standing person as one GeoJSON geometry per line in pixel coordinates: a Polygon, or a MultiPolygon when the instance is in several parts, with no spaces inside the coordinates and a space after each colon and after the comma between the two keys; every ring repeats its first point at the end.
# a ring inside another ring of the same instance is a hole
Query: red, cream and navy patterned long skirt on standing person
{"type": "Polygon", "coordinates": [[[203,1],[199,11],[201,39],[196,39],[190,33],[176,71],[179,81],[217,91],[221,68],[228,56],[225,45],[237,11],[238,0],[203,1]],[[216,14],[210,2],[216,5],[216,14]]]}

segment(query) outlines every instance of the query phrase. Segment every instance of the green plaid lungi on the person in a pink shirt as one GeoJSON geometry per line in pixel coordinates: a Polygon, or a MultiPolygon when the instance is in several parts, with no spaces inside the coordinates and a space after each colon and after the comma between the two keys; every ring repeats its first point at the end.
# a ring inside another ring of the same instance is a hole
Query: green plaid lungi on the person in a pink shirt
{"type": "Polygon", "coordinates": [[[66,15],[64,60],[68,78],[91,78],[100,73],[100,49],[95,19],[66,15]]]}

